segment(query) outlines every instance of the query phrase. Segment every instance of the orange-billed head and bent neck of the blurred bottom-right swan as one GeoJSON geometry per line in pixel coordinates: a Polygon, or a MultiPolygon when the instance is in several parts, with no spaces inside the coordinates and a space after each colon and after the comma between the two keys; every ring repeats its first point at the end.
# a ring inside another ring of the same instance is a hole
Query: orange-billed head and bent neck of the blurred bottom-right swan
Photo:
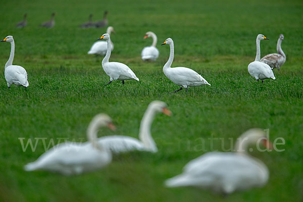
{"type": "Polygon", "coordinates": [[[266,133],[261,128],[251,128],[244,132],[236,142],[236,150],[237,151],[246,151],[248,145],[256,145],[256,144],[262,144],[263,146],[267,148],[272,148],[272,144],[267,139],[266,133]]]}

